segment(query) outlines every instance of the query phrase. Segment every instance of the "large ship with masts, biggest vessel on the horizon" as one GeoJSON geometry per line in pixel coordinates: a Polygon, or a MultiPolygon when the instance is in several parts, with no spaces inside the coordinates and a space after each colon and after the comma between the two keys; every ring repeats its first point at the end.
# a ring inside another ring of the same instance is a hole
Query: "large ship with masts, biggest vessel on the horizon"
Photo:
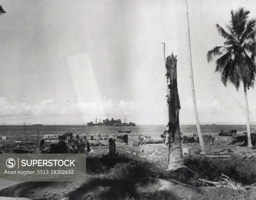
{"type": "Polygon", "coordinates": [[[96,117],[95,124],[93,122],[89,122],[87,123],[87,126],[136,126],[136,125],[132,122],[125,123],[125,117],[124,117],[124,123],[122,123],[121,119],[114,120],[114,118],[111,118],[111,120],[107,118],[102,122],[100,120],[100,122],[97,123],[97,117],[96,117]]]}

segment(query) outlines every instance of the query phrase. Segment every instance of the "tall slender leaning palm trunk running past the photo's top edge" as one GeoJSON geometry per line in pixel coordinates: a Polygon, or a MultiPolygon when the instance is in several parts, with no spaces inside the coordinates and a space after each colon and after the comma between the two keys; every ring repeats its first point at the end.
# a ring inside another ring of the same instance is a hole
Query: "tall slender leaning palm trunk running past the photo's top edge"
{"type": "MultiPolygon", "coordinates": [[[[187,3],[187,19],[188,19],[188,1],[187,0],[186,0],[186,3],[187,3]]],[[[194,87],[192,56],[191,56],[191,46],[190,46],[189,19],[188,19],[188,45],[189,45],[189,55],[190,55],[190,59],[189,59],[189,61],[190,61],[190,63],[189,63],[190,64],[190,84],[191,84],[192,99],[193,99],[194,112],[195,112],[195,118],[196,118],[196,127],[197,127],[199,143],[200,143],[202,154],[206,154],[205,153],[205,144],[204,144],[204,140],[203,140],[201,129],[200,129],[199,118],[198,118],[198,113],[197,113],[197,106],[196,106],[196,94],[195,94],[195,87],[194,87]]]]}

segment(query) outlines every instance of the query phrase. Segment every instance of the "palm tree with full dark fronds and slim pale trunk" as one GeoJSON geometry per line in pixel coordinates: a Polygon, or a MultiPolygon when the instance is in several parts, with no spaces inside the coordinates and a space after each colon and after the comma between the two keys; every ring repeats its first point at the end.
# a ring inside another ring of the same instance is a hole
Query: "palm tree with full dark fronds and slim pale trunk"
{"type": "Polygon", "coordinates": [[[216,60],[215,72],[221,73],[221,81],[227,86],[228,81],[239,89],[243,83],[248,147],[252,147],[247,89],[253,88],[255,81],[255,19],[248,20],[250,11],[239,8],[236,12],[231,10],[231,21],[226,26],[227,31],[216,24],[220,36],[226,41],[224,46],[216,46],[207,53],[208,63],[214,56],[221,56],[216,60]],[[250,55],[251,54],[251,55],[250,55]]]}

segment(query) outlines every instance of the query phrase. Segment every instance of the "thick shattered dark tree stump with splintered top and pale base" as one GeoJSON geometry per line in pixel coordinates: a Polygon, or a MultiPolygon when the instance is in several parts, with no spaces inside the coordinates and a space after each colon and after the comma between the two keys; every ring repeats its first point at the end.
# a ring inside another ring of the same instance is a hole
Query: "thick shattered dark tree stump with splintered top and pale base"
{"type": "Polygon", "coordinates": [[[177,86],[177,60],[173,53],[167,57],[167,84],[168,84],[168,113],[169,123],[167,125],[169,134],[169,157],[167,171],[175,171],[182,168],[187,168],[183,162],[181,149],[182,138],[180,136],[179,127],[179,94],[177,86]]]}

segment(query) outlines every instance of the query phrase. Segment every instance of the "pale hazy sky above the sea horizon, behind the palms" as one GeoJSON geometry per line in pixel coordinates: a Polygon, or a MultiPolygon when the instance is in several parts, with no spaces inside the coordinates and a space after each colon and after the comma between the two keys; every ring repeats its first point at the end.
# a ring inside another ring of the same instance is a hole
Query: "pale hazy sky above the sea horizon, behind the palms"
{"type": "MultiPolygon", "coordinates": [[[[165,55],[177,55],[180,124],[195,124],[185,0],[1,0],[0,124],[87,124],[114,118],[167,125],[165,55]]],[[[201,124],[246,124],[243,89],[225,88],[207,51],[223,45],[216,23],[253,0],[188,0],[201,124]]],[[[256,124],[255,89],[248,91],[256,124]]]]}

